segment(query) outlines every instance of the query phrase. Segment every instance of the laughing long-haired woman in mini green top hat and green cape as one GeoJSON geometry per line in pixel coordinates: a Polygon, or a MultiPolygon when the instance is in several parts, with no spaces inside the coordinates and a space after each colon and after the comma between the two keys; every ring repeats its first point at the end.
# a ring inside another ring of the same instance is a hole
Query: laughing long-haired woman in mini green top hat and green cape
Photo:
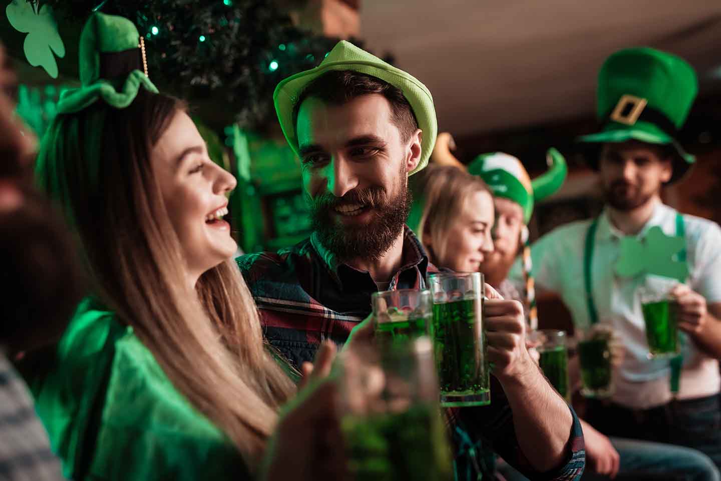
{"type": "MultiPolygon", "coordinates": [[[[144,60],[131,22],[93,14],[82,87],[63,95],[37,159],[92,291],[53,360],[26,379],[71,479],[250,479],[296,388],[231,260],[222,217],[234,177],[208,159],[185,106],[157,92],[144,60]]],[[[320,383],[296,402],[265,479],[337,466],[336,451],[324,463],[309,451],[335,433],[331,400],[332,384],[320,383]]]]}

